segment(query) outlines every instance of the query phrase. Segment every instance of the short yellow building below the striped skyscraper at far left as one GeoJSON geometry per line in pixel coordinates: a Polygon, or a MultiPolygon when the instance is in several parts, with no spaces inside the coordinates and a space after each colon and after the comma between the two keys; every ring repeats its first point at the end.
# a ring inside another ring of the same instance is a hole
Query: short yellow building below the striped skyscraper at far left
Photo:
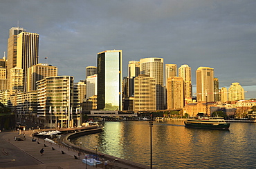
{"type": "Polygon", "coordinates": [[[24,92],[24,71],[21,68],[10,69],[10,95],[24,92]]]}

